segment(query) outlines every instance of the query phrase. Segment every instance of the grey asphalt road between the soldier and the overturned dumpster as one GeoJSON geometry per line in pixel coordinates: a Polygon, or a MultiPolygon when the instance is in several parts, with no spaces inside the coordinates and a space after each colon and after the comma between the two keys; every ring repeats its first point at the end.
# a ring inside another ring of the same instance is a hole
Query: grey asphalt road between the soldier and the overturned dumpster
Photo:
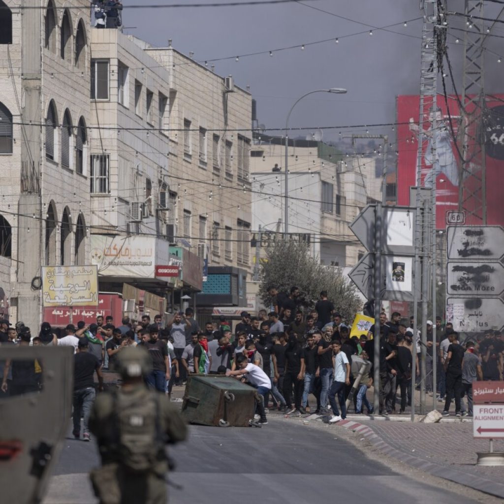
{"type": "MultiPolygon", "coordinates": [[[[272,415],[271,415],[272,416],[272,415]]],[[[474,500],[394,472],[327,431],[271,418],[263,428],[191,426],[171,448],[177,468],[170,503],[241,504],[343,501],[466,504],[474,500]]],[[[91,504],[87,472],[98,464],[94,443],[67,439],[43,504],[91,504]]]]}

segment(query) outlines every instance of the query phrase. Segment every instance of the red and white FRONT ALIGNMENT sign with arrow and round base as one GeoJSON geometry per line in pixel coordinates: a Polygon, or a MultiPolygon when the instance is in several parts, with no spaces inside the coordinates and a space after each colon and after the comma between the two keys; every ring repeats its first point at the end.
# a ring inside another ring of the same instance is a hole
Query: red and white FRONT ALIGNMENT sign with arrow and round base
{"type": "Polygon", "coordinates": [[[489,452],[478,452],[478,465],[504,465],[504,452],[493,451],[493,439],[504,438],[504,382],[473,383],[473,437],[489,439],[489,452]]]}

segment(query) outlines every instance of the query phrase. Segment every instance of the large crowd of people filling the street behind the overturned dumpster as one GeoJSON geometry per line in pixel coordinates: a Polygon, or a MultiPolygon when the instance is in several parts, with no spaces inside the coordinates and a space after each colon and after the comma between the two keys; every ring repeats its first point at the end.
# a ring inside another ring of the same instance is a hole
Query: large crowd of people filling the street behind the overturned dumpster
{"type": "MultiPolygon", "coordinates": [[[[427,321],[426,342],[420,332],[413,334],[414,321],[394,312],[390,320],[380,314],[380,383],[373,383],[374,326],[366,333],[352,335],[335,310],[326,291],[311,309],[300,308],[299,289],[288,293],[268,289],[271,311],[261,309],[257,316],[246,311],[234,330],[225,317],[217,326],[211,321],[200,328],[194,310],[177,312],[167,321],[160,315],[151,321],[144,314],[138,323],[124,317],[114,325],[112,317],[98,317],[96,323],[77,327],[69,324],[65,335],[57,337],[44,322],[38,336],[22,322],[14,327],[0,321],[0,343],[6,345],[72,346],[76,352],[74,407],[85,418],[84,436],[89,438],[86,418],[95,397],[94,373],[102,388],[102,370],[114,371],[124,348],[141,346],[148,350],[152,369],[145,376],[153,390],[171,398],[174,386],[183,386],[188,374],[227,374],[257,388],[262,397],[258,405],[260,423],[267,423],[266,413],[276,408],[287,415],[332,413],[331,422],[344,419],[346,402],[352,392],[356,414],[375,413],[366,393],[379,387],[381,415],[403,414],[412,402],[413,359],[416,364],[415,386],[421,380],[432,394],[432,364],[437,359],[435,377],[437,400],[445,402],[443,415],[449,415],[452,400],[457,416],[472,415],[472,383],[476,380],[502,380],[504,340],[498,331],[487,331],[461,342],[453,326],[436,318],[427,321]],[[433,335],[436,343],[434,345],[433,335]],[[425,345],[425,376],[421,377],[421,345],[425,345]],[[354,386],[359,377],[358,385],[354,386]],[[462,397],[467,397],[467,408],[462,397]],[[311,404],[310,404],[311,403],[311,404]]],[[[25,363],[26,364],[26,363],[25,363]]],[[[2,394],[23,394],[41,386],[40,365],[5,363],[2,394]]],[[[76,424],[74,435],[80,436],[76,424]]]]}

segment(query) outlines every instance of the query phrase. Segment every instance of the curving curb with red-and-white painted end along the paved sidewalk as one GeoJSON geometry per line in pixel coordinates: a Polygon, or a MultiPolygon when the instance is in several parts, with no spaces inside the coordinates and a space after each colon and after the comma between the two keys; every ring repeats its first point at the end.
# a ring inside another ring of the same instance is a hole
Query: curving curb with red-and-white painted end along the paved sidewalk
{"type": "Polygon", "coordinates": [[[504,484],[496,483],[492,480],[488,480],[482,476],[469,474],[458,469],[448,468],[433,462],[429,462],[425,459],[419,459],[418,457],[413,457],[408,455],[406,452],[393,448],[388,443],[386,443],[378,434],[376,434],[372,427],[364,425],[353,420],[341,420],[338,422],[337,426],[343,427],[353,432],[364,436],[368,439],[375,448],[379,449],[381,452],[394,457],[401,462],[408,464],[411,467],[420,469],[432,476],[437,476],[439,478],[448,479],[459,483],[470,488],[474,488],[480,492],[488,493],[494,495],[495,497],[504,498],[504,484]]]}

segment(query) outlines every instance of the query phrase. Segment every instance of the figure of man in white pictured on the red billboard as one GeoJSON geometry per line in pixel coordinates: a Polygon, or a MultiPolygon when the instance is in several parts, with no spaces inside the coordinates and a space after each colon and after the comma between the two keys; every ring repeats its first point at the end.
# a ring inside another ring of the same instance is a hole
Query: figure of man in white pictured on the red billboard
{"type": "MultiPolygon", "coordinates": [[[[423,134],[427,139],[427,146],[423,151],[423,163],[425,166],[431,166],[428,173],[423,179],[424,187],[431,188],[434,176],[443,174],[448,181],[454,185],[459,185],[459,168],[457,166],[457,158],[453,151],[452,136],[450,127],[443,117],[443,112],[439,107],[435,111],[433,107],[430,109],[427,123],[427,129],[423,130],[423,134]],[[435,130],[432,128],[432,121],[435,113],[435,130]],[[435,138],[436,151],[432,152],[432,140],[435,138]]],[[[409,120],[409,129],[417,137],[420,133],[420,126],[416,124],[413,117],[409,120]]]]}

